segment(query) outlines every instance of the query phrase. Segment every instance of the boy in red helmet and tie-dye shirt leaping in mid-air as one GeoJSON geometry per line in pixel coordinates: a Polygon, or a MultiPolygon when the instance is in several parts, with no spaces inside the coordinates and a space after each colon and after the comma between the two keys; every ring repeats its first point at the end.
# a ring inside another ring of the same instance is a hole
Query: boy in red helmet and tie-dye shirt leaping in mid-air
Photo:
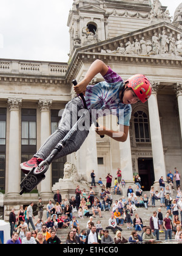
{"type": "MultiPolygon", "coordinates": [[[[116,141],[124,142],[127,140],[129,133],[130,116],[132,113],[131,104],[135,104],[138,101],[146,102],[152,93],[152,86],[149,79],[142,74],[136,74],[124,82],[123,79],[113,72],[109,66],[104,64],[104,62],[95,60],[87,71],[84,79],[74,87],[74,90],[77,94],[84,94],[89,114],[93,114],[94,112],[95,119],[99,116],[103,116],[103,113],[101,113],[101,111],[98,113],[97,110],[109,110],[107,115],[110,115],[112,112],[112,115],[117,116],[120,128],[118,131],[109,130],[106,129],[106,127],[100,126],[96,127],[96,133],[98,133],[98,135],[107,135],[116,141]],[[105,81],[99,82],[96,85],[89,85],[93,77],[98,73],[103,76],[105,81]]],[[[83,102],[79,97],[72,99],[66,105],[62,113],[61,122],[55,133],[50,135],[45,143],[42,144],[41,148],[33,155],[32,159],[28,162],[21,163],[21,169],[25,174],[29,173],[33,167],[36,168],[42,160],[45,160],[45,158],[50,155],[50,152],[52,152],[56,144],[66,136],[74,125],[72,119],[77,120],[78,112],[79,110],[83,110],[83,108],[83,102]],[[73,106],[76,106],[76,110],[73,106]],[[73,110],[75,110],[76,113],[73,113],[73,110]],[[69,121],[67,120],[68,116],[70,116],[69,121]]],[[[83,129],[83,127],[77,129],[64,149],[56,155],[55,160],[78,151],[89,134],[91,125],[90,115],[86,115],[84,123],[87,124],[86,129],[83,129]]]]}

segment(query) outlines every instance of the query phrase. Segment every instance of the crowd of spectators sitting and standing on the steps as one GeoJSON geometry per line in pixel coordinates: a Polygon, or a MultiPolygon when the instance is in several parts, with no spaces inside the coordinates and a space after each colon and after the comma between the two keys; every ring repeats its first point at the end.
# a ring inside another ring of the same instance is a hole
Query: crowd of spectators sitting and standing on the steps
{"type": "MultiPolygon", "coordinates": [[[[86,189],[81,191],[78,185],[75,188],[75,196],[70,199],[62,199],[59,190],[56,191],[53,200],[45,206],[39,198],[36,202],[38,213],[36,220],[33,215],[33,202],[29,207],[24,208],[21,205],[17,216],[12,209],[9,218],[12,239],[7,243],[61,244],[61,240],[56,235],[59,229],[68,229],[67,244],[153,243],[160,241],[160,233],[165,233],[165,240],[172,240],[172,233],[174,233],[174,239],[182,242],[182,192],[178,183],[176,196],[175,198],[172,196],[174,193],[172,173],[170,172],[167,176],[170,178],[169,184],[166,186],[161,177],[160,191],[155,191],[152,187],[150,196],[143,194],[140,177],[135,176],[136,186],[134,189],[129,186],[126,198],[121,195],[121,188],[125,188],[126,184],[120,174],[118,168],[113,188],[111,187],[112,176],[109,173],[106,176],[106,188],[100,178],[97,185],[102,188],[97,195],[93,187],[90,187],[90,191],[86,189]],[[113,195],[117,194],[118,199],[113,200],[113,195]],[[160,208],[155,207],[155,201],[160,201],[160,208]],[[137,209],[142,207],[144,210],[149,207],[156,208],[153,209],[148,226],[144,226],[141,216],[137,213],[137,209]],[[165,216],[161,212],[162,207],[166,208],[165,216]],[[45,208],[47,214],[46,219],[43,220],[45,208]],[[106,211],[110,212],[110,218],[108,226],[103,227],[102,218],[106,211]],[[99,220],[95,222],[96,215],[99,216],[99,220]],[[81,229],[79,219],[89,219],[86,221],[85,229],[81,229]],[[122,235],[123,227],[131,230],[128,238],[122,235]],[[30,232],[31,228],[32,232],[30,232]],[[112,238],[109,232],[113,232],[115,237],[112,238]]],[[[91,177],[96,187],[94,171],[91,177]]]]}

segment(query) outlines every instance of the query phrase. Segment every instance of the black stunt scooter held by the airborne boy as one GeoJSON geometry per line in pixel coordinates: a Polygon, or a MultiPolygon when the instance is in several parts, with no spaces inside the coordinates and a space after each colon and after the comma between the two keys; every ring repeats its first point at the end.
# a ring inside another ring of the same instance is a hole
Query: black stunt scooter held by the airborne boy
{"type": "MultiPolygon", "coordinates": [[[[76,80],[73,80],[72,83],[73,85],[77,85],[76,80]]],[[[25,178],[22,180],[20,184],[21,191],[19,194],[30,193],[33,190],[33,188],[35,188],[42,180],[45,179],[45,172],[47,172],[47,170],[49,169],[49,166],[55,159],[56,155],[58,155],[58,153],[64,148],[64,146],[66,146],[67,141],[76,132],[76,130],[79,127],[79,124],[83,124],[83,120],[84,118],[86,118],[86,114],[88,113],[88,110],[87,110],[87,104],[86,104],[86,100],[84,98],[83,93],[80,93],[79,96],[83,101],[85,111],[80,116],[78,121],[74,124],[72,129],[70,129],[70,131],[67,133],[67,135],[61,141],[59,141],[59,143],[55,146],[55,148],[50,153],[50,155],[44,161],[42,161],[36,168],[33,168],[29,172],[29,174],[27,174],[27,176],[25,176],[25,178]]],[[[96,127],[99,127],[96,120],[94,121],[94,123],[96,127]]],[[[100,137],[104,138],[104,135],[101,135],[100,137]]]]}

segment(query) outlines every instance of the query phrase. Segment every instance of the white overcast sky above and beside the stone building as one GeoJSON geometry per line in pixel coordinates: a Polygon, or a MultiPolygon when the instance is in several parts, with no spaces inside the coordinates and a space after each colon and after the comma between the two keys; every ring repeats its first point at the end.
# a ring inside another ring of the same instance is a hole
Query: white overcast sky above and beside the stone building
{"type": "MultiPolygon", "coordinates": [[[[160,0],[170,15],[182,0],[160,0]]],[[[0,0],[0,59],[67,62],[73,0],[0,0]]]]}

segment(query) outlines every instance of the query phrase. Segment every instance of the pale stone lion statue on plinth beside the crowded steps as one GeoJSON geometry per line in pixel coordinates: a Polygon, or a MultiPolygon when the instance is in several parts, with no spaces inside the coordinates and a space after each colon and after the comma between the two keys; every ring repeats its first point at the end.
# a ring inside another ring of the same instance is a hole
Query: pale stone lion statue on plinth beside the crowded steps
{"type": "Polygon", "coordinates": [[[66,162],[64,164],[64,177],[63,179],[59,179],[59,182],[81,182],[87,183],[86,174],[78,174],[78,170],[76,166],[70,162],[66,162]]]}

